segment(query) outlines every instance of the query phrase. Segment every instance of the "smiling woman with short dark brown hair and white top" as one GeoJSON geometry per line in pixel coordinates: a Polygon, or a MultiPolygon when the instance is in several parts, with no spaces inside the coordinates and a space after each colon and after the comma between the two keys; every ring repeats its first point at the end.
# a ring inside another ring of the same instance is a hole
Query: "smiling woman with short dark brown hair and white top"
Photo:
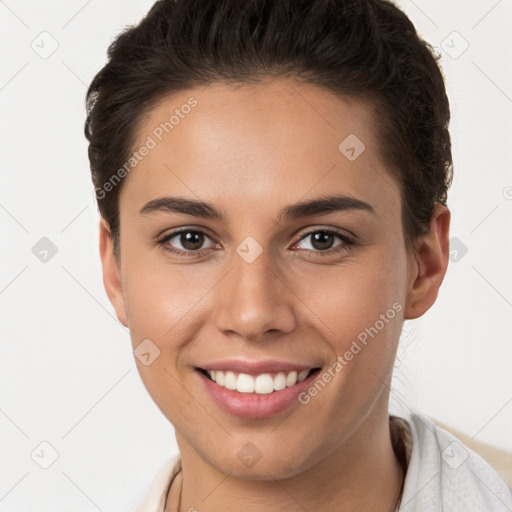
{"type": "Polygon", "coordinates": [[[139,510],[510,510],[388,412],[448,264],[442,74],[385,0],[159,1],[88,91],[104,284],[170,459],[139,510]]]}

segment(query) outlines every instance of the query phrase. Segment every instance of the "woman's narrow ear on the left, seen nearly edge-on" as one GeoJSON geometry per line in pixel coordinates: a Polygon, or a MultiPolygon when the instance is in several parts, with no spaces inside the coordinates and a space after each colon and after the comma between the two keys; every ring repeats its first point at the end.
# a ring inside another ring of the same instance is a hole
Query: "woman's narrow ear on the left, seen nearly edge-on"
{"type": "Polygon", "coordinates": [[[103,217],[100,219],[100,257],[103,268],[103,286],[112,306],[114,306],[118,320],[125,327],[128,327],[121,284],[121,271],[117,258],[114,255],[110,227],[103,217]]]}

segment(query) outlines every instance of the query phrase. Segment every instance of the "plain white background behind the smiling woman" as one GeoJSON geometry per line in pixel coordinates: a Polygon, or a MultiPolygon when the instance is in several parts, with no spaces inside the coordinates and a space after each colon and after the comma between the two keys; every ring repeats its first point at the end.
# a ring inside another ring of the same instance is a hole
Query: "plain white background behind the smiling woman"
{"type": "MultiPolygon", "coordinates": [[[[103,290],[83,136],[86,87],[108,44],[151,5],[0,1],[4,512],[133,510],[176,451],[103,290]],[[31,47],[41,38],[47,50],[58,44],[47,59],[31,47]],[[42,237],[58,250],[46,263],[32,253],[42,237]],[[43,441],[58,452],[46,470],[30,455],[43,441]]],[[[392,403],[512,451],[512,1],[399,5],[443,53],[453,247],[467,253],[436,305],[406,323],[392,403]]]]}

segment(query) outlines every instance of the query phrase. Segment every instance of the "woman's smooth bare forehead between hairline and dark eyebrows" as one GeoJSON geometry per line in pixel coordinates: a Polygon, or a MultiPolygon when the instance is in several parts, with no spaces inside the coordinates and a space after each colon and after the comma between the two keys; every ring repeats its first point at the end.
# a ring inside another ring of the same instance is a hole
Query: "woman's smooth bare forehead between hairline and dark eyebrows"
{"type": "Polygon", "coordinates": [[[265,207],[336,191],[396,209],[398,186],[375,126],[369,103],[309,84],[180,91],[140,124],[134,150],[150,149],[130,171],[121,202],[176,194],[265,207]]]}

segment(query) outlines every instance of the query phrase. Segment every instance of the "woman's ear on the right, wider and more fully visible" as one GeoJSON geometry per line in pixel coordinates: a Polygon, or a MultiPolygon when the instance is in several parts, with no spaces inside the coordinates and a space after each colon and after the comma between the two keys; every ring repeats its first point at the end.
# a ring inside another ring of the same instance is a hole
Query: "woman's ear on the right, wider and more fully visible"
{"type": "Polygon", "coordinates": [[[419,237],[409,256],[406,320],[423,315],[437,299],[450,256],[450,216],[446,206],[436,205],[428,233],[419,237]]]}

